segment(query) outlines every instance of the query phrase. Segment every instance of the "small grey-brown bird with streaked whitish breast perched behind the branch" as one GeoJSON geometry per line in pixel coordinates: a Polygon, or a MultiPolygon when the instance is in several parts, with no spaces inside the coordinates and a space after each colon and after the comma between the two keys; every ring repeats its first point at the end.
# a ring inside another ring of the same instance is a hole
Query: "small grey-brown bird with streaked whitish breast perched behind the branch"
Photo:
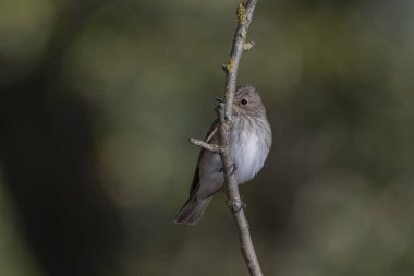
{"type": "MultiPolygon", "coordinates": [[[[223,98],[216,97],[222,112],[223,98]]],[[[217,144],[220,121],[216,119],[205,142],[217,144]]],[[[233,173],[238,184],[252,180],[263,168],[272,143],[272,132],[267,120],[266,108],[256,88],[239,85],[232,106],[230,130],[233,173]]],[[[175,224],[195,225],[208,204],[224,184],[223,166],[218,153],[202,148],[190,189],[190,196],[174,218],[175,224]]]]}

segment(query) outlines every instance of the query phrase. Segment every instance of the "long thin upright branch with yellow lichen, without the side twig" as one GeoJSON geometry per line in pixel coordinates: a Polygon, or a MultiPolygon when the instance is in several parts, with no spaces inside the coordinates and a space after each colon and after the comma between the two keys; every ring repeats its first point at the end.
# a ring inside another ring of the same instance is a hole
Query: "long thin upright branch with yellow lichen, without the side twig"
{"type": "Polygon", "coordinates": [[[252,22],[254,9],[257,0],[247,0],[246,4],[239,4],[238,8],[238,28],[234,34],[233,44],[230,52],[230,59],[223,65],[226,72],[226,91],[224,91],[224,112],[220,113],[220,135],[219,145],[221,145],[220,156],[224,171],[224,191],[228,196],[229,207],[232,211],[238,232],[241,251],[246,262],[248,272],[253,276],[261,276],[261,268],[256,256],[248,230],[248,223],[244,216],[244,206],[239,187],[233,173],[233,160],[231,158],[231,140],[230,130],[232,125],[232,106],[236,88],[236,76],[240,59],[244,50],[249,50],[253,43],[246,43],[247,31],[252,22]]]}

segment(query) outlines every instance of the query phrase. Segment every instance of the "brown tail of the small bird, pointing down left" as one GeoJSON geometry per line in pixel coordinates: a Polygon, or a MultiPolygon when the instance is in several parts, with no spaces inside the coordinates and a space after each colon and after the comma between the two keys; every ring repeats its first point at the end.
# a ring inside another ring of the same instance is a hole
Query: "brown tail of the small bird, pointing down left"
{"type": "Polygon", "coordinates": [[[184,203],[184,206],[180,209],[179,214],[176,214],[174,223],[178,225],[195,225],[203,216],[211,199],[212,195],[206,199],[198,200],[196,194],[194,193],[184,203]]]}

